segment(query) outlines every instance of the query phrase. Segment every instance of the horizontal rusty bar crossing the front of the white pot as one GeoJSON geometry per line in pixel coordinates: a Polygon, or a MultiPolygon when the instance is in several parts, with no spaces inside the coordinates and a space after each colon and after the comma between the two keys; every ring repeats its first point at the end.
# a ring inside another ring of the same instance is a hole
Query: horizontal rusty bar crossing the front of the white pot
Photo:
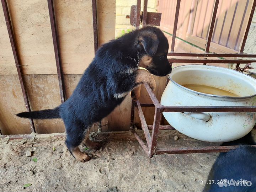
{"type": "Polygon", "coordinates": [[[164,112],[256,112],[256,106],[163,106],[164,112]]]}

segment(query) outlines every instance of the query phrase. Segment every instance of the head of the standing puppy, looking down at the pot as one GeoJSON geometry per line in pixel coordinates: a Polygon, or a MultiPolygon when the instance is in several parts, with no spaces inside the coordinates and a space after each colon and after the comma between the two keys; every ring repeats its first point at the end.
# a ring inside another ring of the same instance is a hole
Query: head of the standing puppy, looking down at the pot
{"type": "Polygon", "coordinates": [[[159,28],[145,27],[140,29],[135,44],[140,53],[140,67],[157,76],[171,73],[171,65],[167,59],[169,43],[159,28]]]}

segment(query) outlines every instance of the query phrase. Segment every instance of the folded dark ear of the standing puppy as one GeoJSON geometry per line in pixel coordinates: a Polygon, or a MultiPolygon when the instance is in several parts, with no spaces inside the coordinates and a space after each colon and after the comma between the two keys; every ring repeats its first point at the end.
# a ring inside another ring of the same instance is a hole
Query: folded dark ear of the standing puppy
{"type": "Polygon", "coordinates": [[[152,31],[142,31],[138,35],[138,46],[143,48],[145,52],[153,56],[156,54],[158,49],[158,38],[156,34],[152,31]]]}

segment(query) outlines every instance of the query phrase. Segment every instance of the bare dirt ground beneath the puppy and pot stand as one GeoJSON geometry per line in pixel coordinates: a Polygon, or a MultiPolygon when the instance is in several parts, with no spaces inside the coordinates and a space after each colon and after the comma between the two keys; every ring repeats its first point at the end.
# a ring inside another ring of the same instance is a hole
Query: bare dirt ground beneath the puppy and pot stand
{"type": "MultiPolygon", "coordinates": [[[[155,155],[149,159],[134,136],[105,140],[85,163],[75,161],[64,138],[0,140],[0,191],[202,191],[217,153],[155,155]],[[32,156],[27,156],[32,151],[32,156]],[[35,162],[37,160],[37,162],[35,162]],[[23,185],[31,186],[23,189],[23,185]]],[[[140,132],[140,134],[142,134],[140,132]]],[[[210,146],[161,130],[159,145],[210,146]],[[178,140],[174,136],[178,136],[178,140]]]]}

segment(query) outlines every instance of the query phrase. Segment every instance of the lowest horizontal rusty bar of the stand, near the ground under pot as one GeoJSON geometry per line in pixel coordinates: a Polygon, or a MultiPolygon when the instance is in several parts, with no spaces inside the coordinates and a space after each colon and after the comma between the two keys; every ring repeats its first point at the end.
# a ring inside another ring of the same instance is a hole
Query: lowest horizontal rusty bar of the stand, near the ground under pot
{"type": "MultiPolygon", "coordinates": [[[[248,145],[247,145],[248,146],[248,145]]],[[[256,145],[250,145],[256,147],[256,145]]],[[[165,154],[188,154],[188,153],[219,153],[219,152],[228,152],[231,149],[238,148],[239,145],[231,146],[207,146],[207,147],[182,147],[182,148],[160,148],[157,149],[156,155],[165,155],[165,154]]]]}

